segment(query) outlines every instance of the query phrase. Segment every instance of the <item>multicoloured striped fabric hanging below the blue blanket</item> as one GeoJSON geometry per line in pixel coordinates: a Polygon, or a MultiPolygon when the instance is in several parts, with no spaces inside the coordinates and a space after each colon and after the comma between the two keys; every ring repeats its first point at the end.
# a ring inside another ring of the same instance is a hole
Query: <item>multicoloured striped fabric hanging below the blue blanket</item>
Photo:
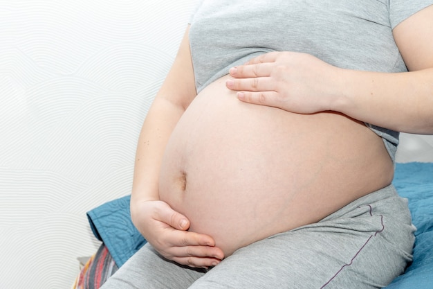
{"type": "Polygon", "coordinates": [[[82,268],[72,289],[98,289],[118,270],[107,247],[102,244],[82,268]]]}

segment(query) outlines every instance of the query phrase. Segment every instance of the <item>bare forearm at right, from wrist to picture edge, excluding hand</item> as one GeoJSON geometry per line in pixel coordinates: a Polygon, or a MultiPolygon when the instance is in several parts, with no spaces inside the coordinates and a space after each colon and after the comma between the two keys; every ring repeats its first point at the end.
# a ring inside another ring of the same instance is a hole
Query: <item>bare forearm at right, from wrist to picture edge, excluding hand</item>
{"type": "Polygon", "coordinates": [[[339,73],[331,110],[391,130],[433,134],[433,69],[339,73]]]}

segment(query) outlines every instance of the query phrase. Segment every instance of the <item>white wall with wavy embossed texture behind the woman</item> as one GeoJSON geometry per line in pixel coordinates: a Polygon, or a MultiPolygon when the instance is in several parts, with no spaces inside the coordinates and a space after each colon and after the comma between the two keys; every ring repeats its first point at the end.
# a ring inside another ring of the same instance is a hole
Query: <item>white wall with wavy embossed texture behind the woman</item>
{"type": "MultiPolygon", "coordinates": [[[[70,288],[196,0],[0,0],[0,288],[70,288]]],[[[399,161],[433,161],[403,136],[399,161]]]]}

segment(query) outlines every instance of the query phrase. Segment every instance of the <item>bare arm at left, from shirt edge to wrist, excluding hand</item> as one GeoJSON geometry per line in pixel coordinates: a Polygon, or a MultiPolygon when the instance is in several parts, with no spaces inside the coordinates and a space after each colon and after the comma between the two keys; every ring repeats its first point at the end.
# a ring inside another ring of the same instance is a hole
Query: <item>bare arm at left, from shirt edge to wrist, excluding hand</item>
{"type": "Polygon", "coordinates": [[[142,125],[136,151],[131,198],[158,200],[158,177],[165,146],[176,123],[194,97],[196,89],[188,30],[163,85],[142,125]]]}

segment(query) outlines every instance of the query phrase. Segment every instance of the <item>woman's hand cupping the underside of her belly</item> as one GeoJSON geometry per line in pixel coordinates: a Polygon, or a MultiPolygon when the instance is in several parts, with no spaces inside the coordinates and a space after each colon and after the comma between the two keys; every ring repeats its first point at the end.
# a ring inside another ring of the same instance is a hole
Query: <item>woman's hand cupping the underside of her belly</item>
{"type": "Polygon", "coordinates": [[[138,231],[163,257],[192,268],[209,268],[224,258],[208,235],[187,231],[190,221],[160,200],[131,202],[138,231]]]}

